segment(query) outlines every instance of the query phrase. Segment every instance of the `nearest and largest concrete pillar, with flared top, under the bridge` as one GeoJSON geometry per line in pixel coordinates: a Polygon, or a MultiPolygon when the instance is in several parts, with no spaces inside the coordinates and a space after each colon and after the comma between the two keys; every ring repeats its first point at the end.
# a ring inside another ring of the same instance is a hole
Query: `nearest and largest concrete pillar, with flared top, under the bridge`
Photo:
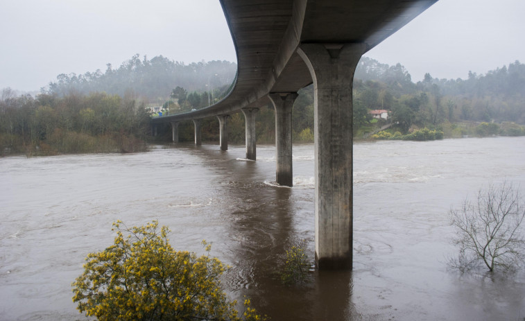
{"type": "Polygon", "coordinates": [[[365,44],[301,44],[313,80],[320,269],[352,269],[352,82],[365,44]]]}

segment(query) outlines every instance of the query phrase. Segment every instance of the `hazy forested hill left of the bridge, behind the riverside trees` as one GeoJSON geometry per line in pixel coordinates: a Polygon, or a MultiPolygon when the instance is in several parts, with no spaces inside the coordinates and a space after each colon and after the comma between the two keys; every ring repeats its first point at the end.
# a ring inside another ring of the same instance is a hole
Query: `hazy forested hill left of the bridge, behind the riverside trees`
{"type": "Polygon", "coordinates": [[[234,62],[214,60],[184,64],[162,55],[142,60],[139,54],[123,62],[118,69],[107,64],[105,72],[100,70],[83,75],[61,73],[56,82],[49,83],[47,94],[64,96],[71,92],[89,94],[105,92],[124,96],[131,92],[148,102],[163,102],[175,87],[184,87],[189,92],[205,92],[230,85],[234,80],[237,65],[234,62]]]}

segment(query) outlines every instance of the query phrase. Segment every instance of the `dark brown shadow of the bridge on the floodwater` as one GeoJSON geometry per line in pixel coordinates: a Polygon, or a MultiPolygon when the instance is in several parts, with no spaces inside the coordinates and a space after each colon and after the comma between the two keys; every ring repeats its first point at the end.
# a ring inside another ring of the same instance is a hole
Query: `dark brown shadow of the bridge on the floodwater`
{"type": "MultiPolygon", "coordinates": [[[[275,162],[249,162],[209,146],[195,147],[223,182],[218,184],[227,235],[223,236],[232,269],[225,288],[239,302],[271,320],[362,320],[352,303],[351,271],[310,272],[304,284],[286,286],[279,279],[279,263],[293,242],[306,238],[313,261],[313,190],[290,189],[265,183],[275,175],[275,162]]],[[[221,258],[223,259],[223,258],[221,258]]]]}

